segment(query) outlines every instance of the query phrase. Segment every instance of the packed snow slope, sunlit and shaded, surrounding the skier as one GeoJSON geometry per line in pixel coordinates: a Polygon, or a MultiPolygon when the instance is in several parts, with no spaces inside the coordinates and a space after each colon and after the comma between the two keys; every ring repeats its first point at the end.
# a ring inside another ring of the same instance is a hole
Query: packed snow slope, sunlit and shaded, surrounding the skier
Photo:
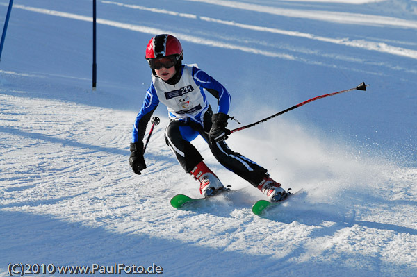
{"type": "MultiPolygon", "coordinates": [[[[0,0],[1,22],[7,7],[0,0]]],[[[0,62],[1,276],[15,263],[417,276],[416,65],[415,0],[98,0],[92,91],[92,1],[15,0],[0,62]],[[252,215],[263,194],[197,139],[240,190],[175,210],[170,197],[198,196],[198,184],[165,145],[162,105],[147,169],[135,175],[128,162],[151,80],[145,47],[158,33],[176,35],[184,62],[227,87],[243,124],[370,86],[229,137],[285,188],[303,189],[291,201],[252,215]]]]}

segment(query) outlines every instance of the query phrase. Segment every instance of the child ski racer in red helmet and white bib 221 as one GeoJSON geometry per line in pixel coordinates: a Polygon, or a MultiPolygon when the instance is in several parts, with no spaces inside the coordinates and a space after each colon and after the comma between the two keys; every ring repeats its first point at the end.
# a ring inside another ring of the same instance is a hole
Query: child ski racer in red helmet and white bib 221
{"type": "Polygon", "coordinates": [[[230,94],[206,72],[192,65],[182,65],[183,49],[176,37],[166,34],[152,37],[145,58],[152,69],[152,83],[133,126],[129,163],[136,174],[146,169],[142,140],[152,113],[162,102],[170,117],[165,141],[183,169],[199,181],[202,196],[215,194],[224,186],[190,143],[198,135],[204,138],[220,164],[257,187],[270,201],[281,201],[288,195],[281,184],[270,178],[266,169],[231,151],[224,142],[230,135],[226,128],[231,118],[227,115],[230,94]],[[206,92],[218,99],[214,114],[206,92]]]}

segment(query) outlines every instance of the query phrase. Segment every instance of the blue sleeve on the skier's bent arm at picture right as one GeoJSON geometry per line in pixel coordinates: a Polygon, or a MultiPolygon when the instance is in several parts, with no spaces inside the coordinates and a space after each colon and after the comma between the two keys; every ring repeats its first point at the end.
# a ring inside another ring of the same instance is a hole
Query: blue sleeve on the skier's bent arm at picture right
{"type": "Polygon", "coordinates": [[[197,67],[193,67],[193,78],[197,85],[203,87],[218,99],[217,112],[227,114],[227,112],[229,112],[231,99],[226,87],[197,67]]]}

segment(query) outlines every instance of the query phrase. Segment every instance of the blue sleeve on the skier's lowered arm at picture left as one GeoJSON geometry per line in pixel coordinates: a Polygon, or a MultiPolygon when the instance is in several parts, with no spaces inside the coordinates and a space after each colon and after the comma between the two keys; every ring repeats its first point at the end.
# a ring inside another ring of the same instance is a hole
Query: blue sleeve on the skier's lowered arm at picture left
{"type": "Polygon", "coordinates": [[[152,84],[146,91],[145,100],[143,101],[142,108],[136,116],[135,124],[133,124],[132,142],[139,142],[145,137],[146,127],[149,120],[154,113],[154,110],[158,107],[159,99],[156,95],[155,87],[152,84]]]}

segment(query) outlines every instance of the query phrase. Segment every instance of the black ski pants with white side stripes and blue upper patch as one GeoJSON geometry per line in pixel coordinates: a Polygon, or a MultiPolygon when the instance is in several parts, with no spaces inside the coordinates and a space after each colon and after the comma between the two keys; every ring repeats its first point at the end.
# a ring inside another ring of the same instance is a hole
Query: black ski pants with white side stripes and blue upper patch
{"type": "Polygon", "coordinates": [[[224,140],[211,142],[208,137],[211,120],[205,120],[204,125],[206,130],[201,124],[194,121],[172,120],[165,130],[165,141],[183,169],[190,173],[199,162],[202,162],[203,157],[190,143],[195,137],[201,135],[221,165],[250,182],[254,187],[261,183],[267,170],[240,153],[231,151],[224,140]]]}

